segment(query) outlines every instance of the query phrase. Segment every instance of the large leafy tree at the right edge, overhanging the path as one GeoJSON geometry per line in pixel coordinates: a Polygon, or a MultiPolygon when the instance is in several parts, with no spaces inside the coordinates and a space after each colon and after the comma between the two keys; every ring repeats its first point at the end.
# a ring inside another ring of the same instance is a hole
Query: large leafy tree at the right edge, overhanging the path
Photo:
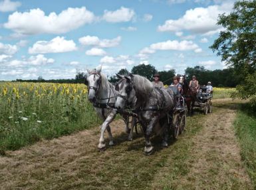
{"type": "Polygon", "coordinates": [[[256,0],[237,1],[229,15],[220,15],[217,24],[224,30],[210,47],[237,75],[243,76],[243,84],[237,86],[234,95],[247,99],[252,97],[256,105],[256,87],[248,84],[256,81],[256,0]]]}

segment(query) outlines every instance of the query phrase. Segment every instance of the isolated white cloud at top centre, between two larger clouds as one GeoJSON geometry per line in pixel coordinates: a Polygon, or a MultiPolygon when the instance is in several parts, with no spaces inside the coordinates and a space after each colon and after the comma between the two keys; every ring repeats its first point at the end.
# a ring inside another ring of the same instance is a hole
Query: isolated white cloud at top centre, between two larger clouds
{"type": "Polygon", "coordinates": [[[109,23],[122,23],[131,21],[134,16],[134,10],[120,7],[120,9],[117,9],[116,11],[105,10],[102,19],[109,23]]]}

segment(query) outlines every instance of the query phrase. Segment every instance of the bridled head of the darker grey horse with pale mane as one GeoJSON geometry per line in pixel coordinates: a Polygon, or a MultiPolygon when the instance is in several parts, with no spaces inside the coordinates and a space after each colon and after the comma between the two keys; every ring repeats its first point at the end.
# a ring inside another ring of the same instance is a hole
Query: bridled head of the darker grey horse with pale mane
{"type": "Polygon", "coordinates": [[[116,98],[115,107],[117,109],[125,109],[126,106],[136,103],[135,89],[132,81],[133,75],[131,73],[126,76],[117,74],[117,77],[120,81],[116,84],[116,91],[119,91],[119,93],[116,98]]]}

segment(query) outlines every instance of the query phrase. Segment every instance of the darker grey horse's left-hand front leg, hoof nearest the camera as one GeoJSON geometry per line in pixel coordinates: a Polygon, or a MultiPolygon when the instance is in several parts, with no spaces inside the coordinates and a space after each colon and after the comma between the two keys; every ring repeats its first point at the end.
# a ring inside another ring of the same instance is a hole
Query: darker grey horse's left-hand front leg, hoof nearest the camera
{"type": "Polygon", "coordinates": [[[153,130],[154,126],[156,125],[156,123],[159,121],[159,119],[160,119],[159,116],[154,116],[152,118],[152,120],[150,120],[150,124],[146,128],[146,132],[145,132],[146,146],[144,148],[145,154],[151,154],[153,151],[153,146],[150,142],[150,136],[152,135],[152,130],[153,130]]]}

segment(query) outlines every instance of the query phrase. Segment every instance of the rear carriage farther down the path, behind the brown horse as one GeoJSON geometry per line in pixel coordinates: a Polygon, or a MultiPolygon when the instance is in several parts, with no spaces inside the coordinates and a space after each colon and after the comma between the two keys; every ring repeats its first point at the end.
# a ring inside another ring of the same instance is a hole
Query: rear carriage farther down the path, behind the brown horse
{"type": "Polygon", "coordinates": [[[212,93],[207,92],[206,87],[200,87],[197,92],[197,99],[195,101],[195,107],[198,107],[203,111],[205,115],[207,113],[211,113],[212,111],[212,103],[211,98],[213,97],[212,93]]]}

